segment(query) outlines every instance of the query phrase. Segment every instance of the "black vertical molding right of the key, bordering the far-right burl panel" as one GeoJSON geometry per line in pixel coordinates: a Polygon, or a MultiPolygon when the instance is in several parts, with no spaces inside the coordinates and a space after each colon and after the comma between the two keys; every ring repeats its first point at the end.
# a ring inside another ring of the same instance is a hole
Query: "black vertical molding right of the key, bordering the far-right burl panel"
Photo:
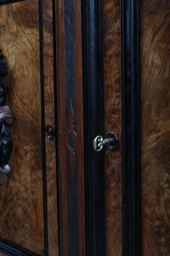
{"type": "Polygon", "coordinates": [[[140,1],[122,0],[122,256],[141,255],[140,1]]]}

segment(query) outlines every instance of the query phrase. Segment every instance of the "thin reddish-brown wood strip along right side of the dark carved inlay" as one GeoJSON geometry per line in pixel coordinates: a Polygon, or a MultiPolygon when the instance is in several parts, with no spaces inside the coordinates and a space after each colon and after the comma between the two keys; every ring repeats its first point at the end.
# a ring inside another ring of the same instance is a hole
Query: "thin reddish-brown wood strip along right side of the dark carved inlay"
{"type": "Polygon", "coordinates": [[[76,88],[77,88],[77,180],[79,255],[85,255],[83,127],[82,127],[82,19],[81,0],[75,0],[76,88]]]}

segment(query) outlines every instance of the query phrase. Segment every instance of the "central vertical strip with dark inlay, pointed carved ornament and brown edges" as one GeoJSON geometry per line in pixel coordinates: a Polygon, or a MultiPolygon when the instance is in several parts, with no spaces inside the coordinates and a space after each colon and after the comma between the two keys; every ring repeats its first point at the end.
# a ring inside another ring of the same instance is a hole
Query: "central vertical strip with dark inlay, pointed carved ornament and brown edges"
{"type": "Polygon", "coordinates": [[[56,8],[60,251],[84,255],[81,4],[56,8]]]}

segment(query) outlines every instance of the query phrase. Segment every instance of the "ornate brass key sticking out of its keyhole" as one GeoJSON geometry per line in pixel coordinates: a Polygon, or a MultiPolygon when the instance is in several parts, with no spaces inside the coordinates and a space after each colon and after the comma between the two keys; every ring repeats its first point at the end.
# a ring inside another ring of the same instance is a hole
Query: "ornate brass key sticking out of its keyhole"
{"type": "Polygon", "coordinates": [[[105,138],[100,135],[94,138],[94,149],[96,151],[101,151],[105,145],[112,151],[118,148],[118,137],[115,132],[109,132],[105,138]]]}

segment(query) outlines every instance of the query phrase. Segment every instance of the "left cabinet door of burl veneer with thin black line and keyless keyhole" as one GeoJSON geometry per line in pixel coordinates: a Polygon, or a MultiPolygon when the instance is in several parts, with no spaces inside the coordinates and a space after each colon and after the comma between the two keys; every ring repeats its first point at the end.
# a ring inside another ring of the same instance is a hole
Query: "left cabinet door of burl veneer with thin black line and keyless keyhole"
{"type": "MultiPolygon", "coordinates": [[[[13,149],[0,186],[0,251],[58,255],[52,1],[0,1],[0,49],[8,74],[6,104],[13,149]],[[50,131],[49,131],[50,133],[50,131]]],[[[1,131],[2,132],[2,131],[1,131]]]]}

